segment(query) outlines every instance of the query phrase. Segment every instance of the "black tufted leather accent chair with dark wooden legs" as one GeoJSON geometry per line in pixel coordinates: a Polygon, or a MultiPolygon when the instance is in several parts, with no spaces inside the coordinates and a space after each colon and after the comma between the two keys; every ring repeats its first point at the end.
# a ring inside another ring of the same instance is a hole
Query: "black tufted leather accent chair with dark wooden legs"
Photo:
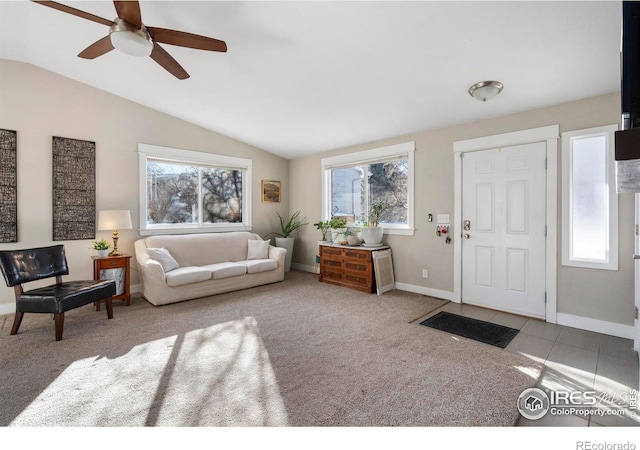
{"type": "Polygon", "coordinates": [[[11,334],[18,333],[24,313],[53,314],[56,341],[62,339],[64,313],[74,308],[105,300],[107,317],[113,317],[111,296],[116,293],[114,281],[87,280],[62,282],[69,274],[63,245],[0,251],[0,267],[7,286],[16,295],[16,316],[11,334]],[[24,291],[23,283],[56,277],[56,284],[24,291]]]}

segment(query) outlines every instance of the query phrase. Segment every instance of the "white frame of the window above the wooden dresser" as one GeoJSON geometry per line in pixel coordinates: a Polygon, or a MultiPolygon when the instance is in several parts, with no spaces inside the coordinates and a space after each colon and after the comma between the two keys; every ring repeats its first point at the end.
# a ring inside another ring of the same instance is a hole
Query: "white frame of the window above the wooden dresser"
{"type": "MultiPolygon", "coordinates": [[[[415,141],[386,147],[374,148],[344,155],[322,158],[322,220],[331,219],[331,170],[355,166],[358,164],[372,164],[384,159],[407,159],[407,224],[382,224],[384,234],[413,236],[415,233],[415,195],[414,195],[414,153],[415,141]]],[[[350,228],[358,228],[351,225],[350,228]]]]}

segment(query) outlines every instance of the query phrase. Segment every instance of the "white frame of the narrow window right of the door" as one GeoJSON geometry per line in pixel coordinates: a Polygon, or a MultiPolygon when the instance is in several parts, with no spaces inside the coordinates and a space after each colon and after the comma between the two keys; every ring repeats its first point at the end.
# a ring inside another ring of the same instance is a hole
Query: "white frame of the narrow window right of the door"
{"type": "Polygon", "coordinates": [[[615,132],[618,125],[568,131],[562,133],[562,265],[587,269],[618,270],[618,195],[616,193],[615,132]],[[572,161],[573,141],[604,136],[606,142],[606,180],[609,191],[606,258],[594,260],[573,256],[572,161]]]}

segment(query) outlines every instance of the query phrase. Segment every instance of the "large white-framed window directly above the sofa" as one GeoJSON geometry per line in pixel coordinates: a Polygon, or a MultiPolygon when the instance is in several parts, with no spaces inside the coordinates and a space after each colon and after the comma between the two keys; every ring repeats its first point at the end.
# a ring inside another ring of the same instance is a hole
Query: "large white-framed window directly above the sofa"
{"type": "Polygon", "coordinates": [[[140,144],[141,234],[248,230],[251,161],[140,144]]]}

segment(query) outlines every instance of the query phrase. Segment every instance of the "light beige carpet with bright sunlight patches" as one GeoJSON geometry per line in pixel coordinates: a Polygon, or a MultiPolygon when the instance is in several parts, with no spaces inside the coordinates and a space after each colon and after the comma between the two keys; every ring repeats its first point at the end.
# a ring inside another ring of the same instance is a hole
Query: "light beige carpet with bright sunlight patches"
{"type": "Polygon", "coordinates": [[[410,322],[445,302],[283,283],[0,316],[3,426],[511,426],[541,367],[410,322]]]}

